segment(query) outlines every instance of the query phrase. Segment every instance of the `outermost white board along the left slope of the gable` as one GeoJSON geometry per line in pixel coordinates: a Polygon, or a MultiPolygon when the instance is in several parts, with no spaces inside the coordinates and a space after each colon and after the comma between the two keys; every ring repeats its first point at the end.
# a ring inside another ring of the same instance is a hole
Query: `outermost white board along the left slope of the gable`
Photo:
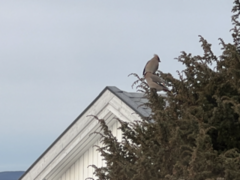
{"type": "MultiPolygon", "coordinates": [[[[43,171],[51,168],[51,162],[61,153],[65,153],[67,145],[77,135],[82,132],[90,122],[97,125],[94,117],[88,115],[98,115],[102,109],[107,106],[111,98],[114,97],[107,88],[103,90],[100,97],[94,101],[61,135],[57,140],[36,160],[36,162],[27,170],[19,180],[35,180],[43,171]]],[[[104,113],[102,114],[104,117],[104,113]]],[[[102,118],[102,117],[99,117],[102,118]]],[[[52,166],[52,165],[51,165],[52,166]]],[[[39,178],[37,178],[39,179],[39,178]]],[[[43,179],[43,178],[42,178],[43,179]]],[[[40,179],[40,180],[42,180],[40,179]]]]}

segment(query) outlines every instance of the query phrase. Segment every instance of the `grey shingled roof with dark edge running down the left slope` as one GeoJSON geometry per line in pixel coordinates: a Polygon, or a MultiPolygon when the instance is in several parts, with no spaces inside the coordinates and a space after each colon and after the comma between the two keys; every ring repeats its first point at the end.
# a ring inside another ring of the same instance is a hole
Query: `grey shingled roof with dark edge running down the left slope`
{"type": "Polygon", "coordinates": [[[31,171],[31,169],[52,149],[52,147],[71,129],[75,123],[91,108],[95,102],[103,96],[104,93],[110,91],[123,103],[130,107],[139,116],[149,116],[151,110],[147,107],[142,106],[143,103],[147,102],[146,97],[142,93],[125,92],[118,89],[115,86],[107,86],[102,92],[93,100],[93,102],[67,127],[67,129],[47,148],[47,150],[27,169],[27,171],[20,177],[19,180],[23,179],[24,176],[31,171]]]}

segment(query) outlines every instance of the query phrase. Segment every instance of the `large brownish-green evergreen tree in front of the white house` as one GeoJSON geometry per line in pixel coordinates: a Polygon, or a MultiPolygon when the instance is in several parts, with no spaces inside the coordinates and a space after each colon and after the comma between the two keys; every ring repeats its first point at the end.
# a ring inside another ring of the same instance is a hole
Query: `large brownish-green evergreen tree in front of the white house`
{"type": "Polygon", "coordinates": [[[211,44],[200,36],[204,53],[181,53],[177,59],[185,69],[179,79],[159,72],[175,95],[159,96],[134,74],[152,113],[132,123],[118,120],[122,142],[99,120],[103,147],[98,151],[106,166],[93,165],[98,179],[240,179],[239,0],[234,1],[232,12],[233,43],[220,39],[221,56],[216,57],[211,44]]]}

